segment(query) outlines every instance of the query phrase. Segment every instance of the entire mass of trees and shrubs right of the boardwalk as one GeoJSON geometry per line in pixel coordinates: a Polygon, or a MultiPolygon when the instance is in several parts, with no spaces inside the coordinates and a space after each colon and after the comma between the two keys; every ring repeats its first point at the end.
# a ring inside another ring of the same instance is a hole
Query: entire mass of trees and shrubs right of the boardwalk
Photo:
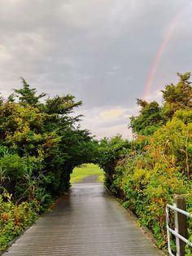
{"type": "Polygon", "coordinates": [[[167,243],[165,205],[181,194],[192,211],[192,87],[190,73],[178,76],[176,85],[162,90],[162,106],[137,99],[141,110],[131,117],[131,143],[117,136],[103,139],[100,148],[107,188],[153,232],[159,247],[167,243]]]}

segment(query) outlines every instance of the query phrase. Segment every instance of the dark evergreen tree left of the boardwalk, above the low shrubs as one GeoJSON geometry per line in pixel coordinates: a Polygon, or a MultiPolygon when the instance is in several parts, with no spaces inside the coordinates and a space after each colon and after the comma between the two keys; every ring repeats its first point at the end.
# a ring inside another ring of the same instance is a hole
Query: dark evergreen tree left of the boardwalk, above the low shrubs
{"type": "MultiPolygon", "coordinates": [[[[41,177],[39,189],[44,194],[59,196],[69,188],[72,169],[95,157],[97,142],[88,130],[78,126],[81,116],[71,115],[81,101],[73,95],[57,95],[40,103],[46,94],[37,95],[36,89],[24,79],[22,82],[23,87],[15,90],[19,100],[11,95],[0,104],[0,145],[10,150],[11,156],[18,156],[10,157],[13,162],[24,160],[24,177],[41,177]]],[[[18,177],[16,183],[24,183],[23,178],[21,181],[18,177]]],[[[18,188],[16,183],[12,187],[18,188]]],[[[26,186],[20,187],[20,192],[13,192],[13,198],[26,190],[26,186]]]]}

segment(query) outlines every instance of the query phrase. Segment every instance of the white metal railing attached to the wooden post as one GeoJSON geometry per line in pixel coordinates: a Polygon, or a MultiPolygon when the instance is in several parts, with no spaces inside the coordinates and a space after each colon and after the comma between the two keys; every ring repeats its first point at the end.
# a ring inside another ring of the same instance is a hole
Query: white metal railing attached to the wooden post
{"type": "Polygon", "coordinates": [[[190,245],[192,247],[192,242],[188,241],[184,236],[181,236],[175,227],[175,230],[173,230],[171,227],[169,227],[169,209],[174,210],[175,214],[180,213],[184,214],[186,217],[192,218],[192,214],[186,212],[185,210],[181,210],[177,208],[176,205],[166,205],[166,221],[167,221],[167,234],[168,234],[168,253],[171,256],[180,256],[181,254],[177,252],[177,254],[172,254],[172,249],[171,249],[171,241],[170,241],[170,232],[176,236],[176,240],[179,241],[184,241],[185,244],[190,245]]]}

